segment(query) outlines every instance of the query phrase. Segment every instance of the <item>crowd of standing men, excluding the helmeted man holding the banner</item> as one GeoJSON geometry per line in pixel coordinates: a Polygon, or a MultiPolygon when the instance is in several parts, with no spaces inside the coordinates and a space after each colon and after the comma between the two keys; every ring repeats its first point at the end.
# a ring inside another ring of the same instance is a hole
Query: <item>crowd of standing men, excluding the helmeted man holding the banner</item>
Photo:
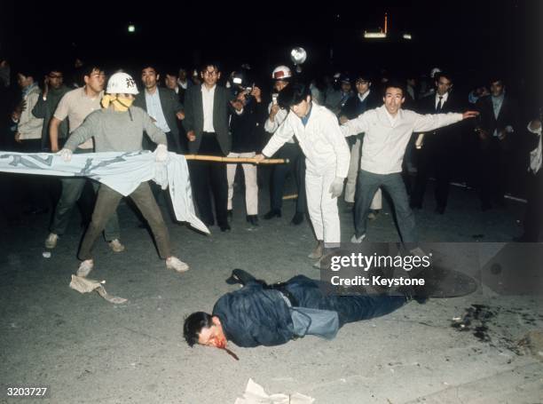
{"type": "MultiPolygon", "coordinates": [[[[8,60],[0,63],[2,149],[59,152],[89,115],[112,103],[129,112],[135,107],[145,111],[153,128],[164,133],[169,152],[288,159],[267,170],[241,164],[246,218],[251,226],[262,226],[258,192],[268,182],[264,175],[269,176],[270,203],[261,217],[280,218],[286,179],[291,176],[297,198],[290,223],[297,226],[311,219],[318,241],[310,255],[314,258],[322,256],[325,244],[341,241],[337,199],[343,185],[355,223],[352,242],[366,238],[367,220],[382,209],[382,190],[392,199],[402,240],[416,242],[413,210],[424,208],[429,178],[435,179],[437,214],[446,213],[453,181],[478,189],[481,210],[503,207],[508,185],[519,179],[510,178],[518,139],[530,131],[535,133],[535,162],[530,168],[535,179],[529,182],[525,225],[531,229],[520,240],[539,237],[540,214],[532,207],[541,198],[538,117],[526,131],[528,122],[521,122],[515,99],[498,75],[467,94],[456,90],[452,74],[439,69],[420,83],[369,71],[308,80],[281,65],[272,70],[267,83],[256,83],[247,65],[226,74],[216,63],[194,70],[146,64],[135,77],[143,91],[112,95],[105,91],[106,72],[98,65],[79,64],[76,74],[50,67],[41,75],[34,66],[10,71],[8,60]]],[[[153,142],[161,144],[158,132],[145,124],[142,128],[146,136],[141,147],[154,150],[153,142]]],[[[74,153],[98,151],[97,136],[89,133],[84,142],[72,144],[74,153]]],[[[216,225],[222,232],[231,230],[232,215],[242,211],[242,202],[233,200],[236,168],[189,162],[197,213],[207,226],[216,225]]],[[[44,242],[48,249],[65,234],[76,205],[82,210],[83,226],[92,223],[98,184],[85,178],[57,181],[3,175],[2,186],[12,191],[2,202],[6,218],[16,221],[20,213],[52,213],[44,242]]],[[[162,197],[158,189],[153,194],[162,197]]],[[[124,250],[115,211],[102,221],[104,228],[95,232],[103,230],[112,250],[124,250]]]]}

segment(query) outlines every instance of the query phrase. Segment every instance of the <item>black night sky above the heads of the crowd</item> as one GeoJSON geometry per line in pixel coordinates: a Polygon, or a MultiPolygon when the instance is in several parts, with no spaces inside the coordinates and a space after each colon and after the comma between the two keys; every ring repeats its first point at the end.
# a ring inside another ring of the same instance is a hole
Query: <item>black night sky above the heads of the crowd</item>
{"type": "Polygon", "coordinates": [[[293,46],[303,46],[304,68],[315,75],[383,67],[391,75],[428,75],[441,67],[468,88],[499,73],[517,98],[539,99],[539,1],[315,4],[6,0],[0,53],[14,65],[70,66],[79,57],[135,72],[147,61],[195,67],[212,59],[224,71],[250,63],[265,80],[275,65],[289,62],[293,46]],[[382,27],[385,12],[390,39],[361,39],[365,29],[382,27]],[[129,23],[136,33],[127,32],[129,23]],[[413,40],[401,39],[404,32],[413,40]]]}

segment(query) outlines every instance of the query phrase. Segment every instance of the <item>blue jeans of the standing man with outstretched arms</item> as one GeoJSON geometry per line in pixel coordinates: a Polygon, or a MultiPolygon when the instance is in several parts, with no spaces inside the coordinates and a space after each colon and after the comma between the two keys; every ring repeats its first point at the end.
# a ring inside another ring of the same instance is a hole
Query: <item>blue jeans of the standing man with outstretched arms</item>
{"type": "Polygon", "coordinates": [[[417,232],[413,210],[409,207],[409,198],[405,192],[405,184],[401,172],[392,174],[374,174],[360,170],[355,194],[355,234],[361,237],[366,234],[367,215],[374,199],[375,192],[382,187],[390,195],[396,211],[397,227],[402,242],[417,242],[417,232]]]}

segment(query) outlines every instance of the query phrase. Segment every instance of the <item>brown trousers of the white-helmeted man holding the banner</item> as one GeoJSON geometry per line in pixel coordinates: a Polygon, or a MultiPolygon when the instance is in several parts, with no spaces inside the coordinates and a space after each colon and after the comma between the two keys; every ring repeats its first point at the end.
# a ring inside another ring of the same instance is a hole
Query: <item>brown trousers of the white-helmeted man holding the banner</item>
{"type": "MultiPolygon", "coordinates": [[[[151,227],[154,241],[159,250],[159,256],[162,259],[169,257],[168,228],[164,224],[161,210],[154,200],[149,184],[142,182],[129,196],[130,199],[136,203],[138,210],[143,217],[146,218],[149,227],[151,227]]],[[[89,225],[89,228],[83,237],[81,249],[79,250],[80,259],[85,260],[92,258],[91,251],[94,248],[94,244],[99,234],[104,230],[107,219],[114,214],[115,210],[117,210],[117,206],[119,205],[119,202],[121,202],[121,199],[122,194],[114,191],[109,186],[100,184],[96,205],[92,212],[91,225],[89,225]]]]}

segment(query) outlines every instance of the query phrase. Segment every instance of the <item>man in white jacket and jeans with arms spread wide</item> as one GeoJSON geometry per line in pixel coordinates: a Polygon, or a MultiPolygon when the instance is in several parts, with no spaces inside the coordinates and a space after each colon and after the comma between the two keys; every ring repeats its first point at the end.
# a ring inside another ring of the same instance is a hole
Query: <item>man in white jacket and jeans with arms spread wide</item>
{"type": "Polygon", "coordinates": [[[345,136],[365,132],[355,199],[355,234],[351,242],[366,238],[366,222],[375,192],[382,187],[390,194],[396,210],[397,226],[402,242],[417,242],[413,211],[409,207],[405,184],[401,177],[405,147],[413,131],[434,131],[462,119],[475,117],[475,111],[464,114],[420,115],[403,110],[403,84],[390,82],[383,93],[382,107],[370,109],[343,123],[345,136]]]}

